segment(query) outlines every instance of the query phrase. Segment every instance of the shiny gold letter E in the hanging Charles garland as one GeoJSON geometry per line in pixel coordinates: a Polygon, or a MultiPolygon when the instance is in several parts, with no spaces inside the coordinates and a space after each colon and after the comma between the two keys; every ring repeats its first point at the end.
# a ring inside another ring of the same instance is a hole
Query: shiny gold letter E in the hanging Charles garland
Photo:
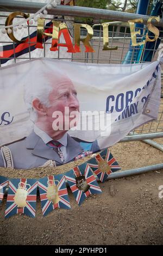
{"type": "Polygon", "coordinates": [[[135,23],[137,22],[143,22],[142,19],[137,19],[137,20],[131,20],[128,21],[130,25],[130,32],[131,32],[131,41],[132,44],[131,46],[137,46],[137,45],[144,45],[146,40],[143,40],[142,42],[136,42],[136,35],[140,35],[140,29],[139,31],[135,31],[135,23]]]}

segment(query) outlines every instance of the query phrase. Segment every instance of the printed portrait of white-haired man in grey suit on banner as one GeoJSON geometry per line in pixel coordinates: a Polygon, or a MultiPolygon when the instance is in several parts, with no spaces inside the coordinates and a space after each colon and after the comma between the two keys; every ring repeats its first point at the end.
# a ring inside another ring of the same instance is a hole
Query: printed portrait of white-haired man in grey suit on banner
{"type": "Polygon", "coordinates": [[[76,88],[67,75],[37,71],[24,84],[24,101],[34,123],[33,130],[27,137],[1,148],[1,167],[9,164],[16,169],[30,169],[43,166],[49,160],[58,166],[87,152],[99,151],[97,141],[85,142],[67,133],[74,118],[72,113],[80,111],[76,88]],[[54,129],[55,120],[61,129],[54,129]]]}

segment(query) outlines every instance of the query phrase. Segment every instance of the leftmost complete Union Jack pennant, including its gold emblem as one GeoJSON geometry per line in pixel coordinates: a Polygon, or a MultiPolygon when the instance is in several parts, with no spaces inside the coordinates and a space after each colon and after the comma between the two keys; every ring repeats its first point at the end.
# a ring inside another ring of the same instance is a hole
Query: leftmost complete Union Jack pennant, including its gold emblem
{"type": "Polygon", "coordinates": [[[5,218],[15,214],[35,217],[36,194],[35,179],[10,179],[5,218]]]}

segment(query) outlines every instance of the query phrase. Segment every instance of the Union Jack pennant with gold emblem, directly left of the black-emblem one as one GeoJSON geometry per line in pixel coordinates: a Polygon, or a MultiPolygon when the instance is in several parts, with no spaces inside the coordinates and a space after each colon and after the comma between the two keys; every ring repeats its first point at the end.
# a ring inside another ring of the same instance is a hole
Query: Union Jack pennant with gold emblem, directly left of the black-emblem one
{"type": "Polygon", "coordinates": [[[46,216],[57,208],[70,209],[70,200],[66,188],[65,176],[62,174],[51,175],[38,181],[42,214],[46,216]],[[48,198],[48,187],[52,186],[53,199],[48,198]],[[56,188],[56,190],[55,190],[56,188]],[[58,198],[58,200],[56,200],[58,198]]]}

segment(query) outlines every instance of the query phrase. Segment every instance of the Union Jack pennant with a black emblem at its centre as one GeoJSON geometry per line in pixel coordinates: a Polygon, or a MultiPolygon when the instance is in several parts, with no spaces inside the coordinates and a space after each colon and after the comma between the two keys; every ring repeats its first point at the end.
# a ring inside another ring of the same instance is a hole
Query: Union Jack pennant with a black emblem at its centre
{"type": "Polygon", "coordinates": [[[90,194],[102,192],[87,163],[74,167],[72,170],[65,173],[65,178],[70,185],[78,205],[81,205],[90,194]]]}

